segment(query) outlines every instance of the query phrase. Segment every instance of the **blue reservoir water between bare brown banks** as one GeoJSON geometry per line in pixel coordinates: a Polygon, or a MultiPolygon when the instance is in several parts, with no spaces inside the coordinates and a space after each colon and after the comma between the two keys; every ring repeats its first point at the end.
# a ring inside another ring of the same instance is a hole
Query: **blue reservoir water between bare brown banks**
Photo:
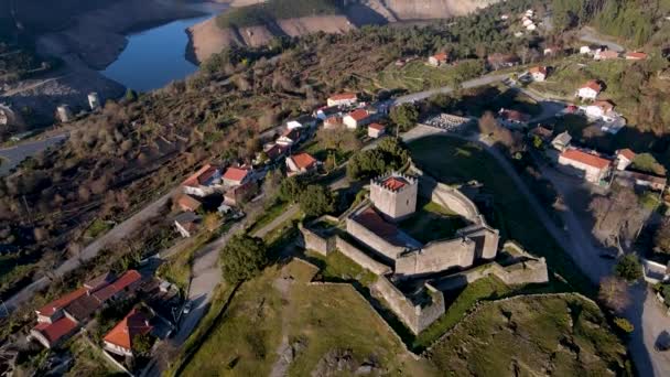
{"type": "Polygon", "coordinates": [[[123,86],[149,91],[182,79],[197,69],[186,60],[186,29],[223,11],[225,6],[199,7],[207,15],[173,21],[128,35],[128,45],[101,73],[123,86]]]}

